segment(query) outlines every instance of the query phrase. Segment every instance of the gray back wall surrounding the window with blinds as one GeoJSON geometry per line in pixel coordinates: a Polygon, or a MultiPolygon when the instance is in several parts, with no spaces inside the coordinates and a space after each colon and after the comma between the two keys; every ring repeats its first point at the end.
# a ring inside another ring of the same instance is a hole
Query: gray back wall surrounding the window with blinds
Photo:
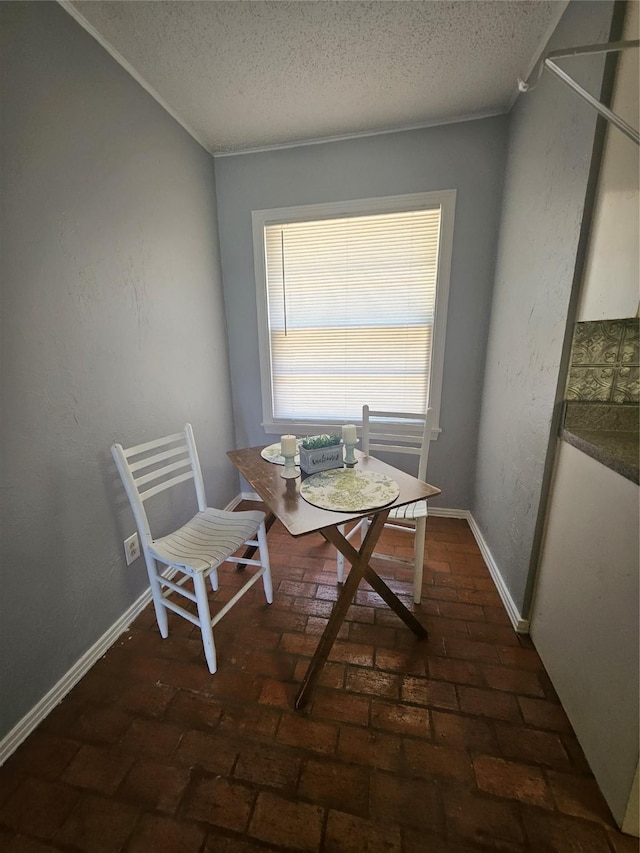
{"type": "Polygon", "coordinates": [[[428,477],[442,489],[434,503],[470,506],[506,132],[500,117],[216,158],[238,446],[275,440],[261,427],[251,211],[457,189],[442,433],[428,477]]]}

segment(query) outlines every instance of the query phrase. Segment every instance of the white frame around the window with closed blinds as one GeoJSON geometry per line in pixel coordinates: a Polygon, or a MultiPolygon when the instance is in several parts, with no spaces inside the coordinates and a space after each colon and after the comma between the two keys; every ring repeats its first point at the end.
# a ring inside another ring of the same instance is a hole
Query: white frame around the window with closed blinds
{"type": "Polygon", "coordinates": [[[436,305],[433,323],[431,351],[431,375],[429,379],[429,407],[433,412],[431,437],[436,439],[441,432],[440,403],[444,373],[445,335],[449,302],[449,280],[453,254],[453,225],[455,219],[456,190],[410,193],[407,195],[382,196],[355,201],[305,204],[295,207],[280,207],[254,210],[251,213],[253,230],[254,270],[256,280],[256,308],[258,315],[258,346],[260,353],[260,380],[262,392],[262,426],[267,434],[309,434],[337,429],[344,421],[294,421],[276,419],[273,416],[271,350],[269,343],[269,312],[267,304],[267,280],[264,229],[267,225],[302,222],[315,219],[330,219],[345,216],[367,216],[385,213],[401,213],[425,208],[440,208],[440,251],[436,284],[436,305]]]}

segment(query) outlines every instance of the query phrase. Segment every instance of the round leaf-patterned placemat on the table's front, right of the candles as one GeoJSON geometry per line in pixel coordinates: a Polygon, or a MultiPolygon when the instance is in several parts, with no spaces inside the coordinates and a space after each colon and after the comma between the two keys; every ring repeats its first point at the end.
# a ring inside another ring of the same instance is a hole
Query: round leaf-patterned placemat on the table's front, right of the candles
{"type": "Polygon", "coordinates": [[[302,481],[300,494],[307,503],[336,512],[363,512],[394,501],[400,487],[390,477],[375,471],[333,468],[302,481]]]}

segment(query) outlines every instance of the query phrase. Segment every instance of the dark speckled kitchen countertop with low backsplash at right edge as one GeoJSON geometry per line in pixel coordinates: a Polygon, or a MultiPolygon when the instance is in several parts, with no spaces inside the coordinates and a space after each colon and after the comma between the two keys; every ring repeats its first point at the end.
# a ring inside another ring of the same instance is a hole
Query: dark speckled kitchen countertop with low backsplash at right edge
{"type": "Polygon", "coordinates": [[[637,405],[565,403],[560,437],[578,450],[640,483],[637,405]]]}

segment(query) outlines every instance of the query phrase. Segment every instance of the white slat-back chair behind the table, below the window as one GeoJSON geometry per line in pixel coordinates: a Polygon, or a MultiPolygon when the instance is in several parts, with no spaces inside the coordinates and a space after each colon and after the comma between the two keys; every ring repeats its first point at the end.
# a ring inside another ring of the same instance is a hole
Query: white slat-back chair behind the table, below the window
{"type": "MultiPolygon", "coordinates": [[[[431,409],[426,413],[374,411],[362,407],[362,452],[375,456],[376,451],[411,454],[418,457],[415,476],[424,480],[427,474],[429,442],[431,440],[431,409]]],[[[414,472],[411,472],[414,473],[414,472]]],[[[361,519],[347,534],[351,539],[358,531],[361,541],[370,524],[368,518],[361,519]]],[[[414,534],[413,600],[420,604],[422,596],[422,571],[424,565],[424,540],[427,529],[427,502],[415,501],[407,506],[392,509],[385,527],[414,534]],[[402,521],[403,524],[394,522],[402,521]]],[[[340,527],[344,533],[344,526],[340,527]]],[[[338,581],[344,580],[344,557],[337,556],[338,581]]]]}

